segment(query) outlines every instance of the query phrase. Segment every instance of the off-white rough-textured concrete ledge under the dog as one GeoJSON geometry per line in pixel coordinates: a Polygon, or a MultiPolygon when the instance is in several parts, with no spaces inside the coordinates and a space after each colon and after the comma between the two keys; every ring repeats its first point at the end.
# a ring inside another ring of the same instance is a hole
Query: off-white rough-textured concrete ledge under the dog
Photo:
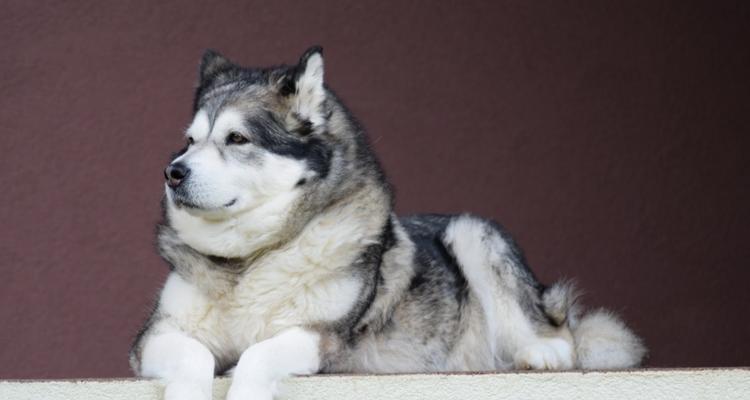
{"type": "MultiPolygon", "coordinates": [[[[214,399],[230,381],[219,378],[214,399]]],[[[147,380],[0,381],[3,400],[158,400],[147,380]]],[[[281,399],[750,399],[750,369],[324,375],[289,379],[281,399]]],[[[250,399],[248,399],[250,400],[250,399]]]]}

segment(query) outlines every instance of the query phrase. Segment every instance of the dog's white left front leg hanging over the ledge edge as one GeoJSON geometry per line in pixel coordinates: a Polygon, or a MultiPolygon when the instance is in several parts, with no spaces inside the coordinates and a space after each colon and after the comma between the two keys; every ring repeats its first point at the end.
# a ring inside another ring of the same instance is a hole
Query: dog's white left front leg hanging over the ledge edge
{"type": "Polygon", "coordinates": [[[143,344],[139,375],[162,379],[165,400],[211,400],[214,356],[181,333],[154,334],[143,344]]]}

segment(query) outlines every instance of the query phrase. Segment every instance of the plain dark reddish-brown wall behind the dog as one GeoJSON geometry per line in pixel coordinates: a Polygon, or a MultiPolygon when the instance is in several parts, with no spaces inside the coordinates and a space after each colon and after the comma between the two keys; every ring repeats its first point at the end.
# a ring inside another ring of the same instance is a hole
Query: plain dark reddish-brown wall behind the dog
{"type": "Polygon", "coordinates": [[[747,3],[57,3],[0,12],[0,378],[130,374],[202,50],[314,43],[400,212],[503,222],[649,366],[750,364],[747,3]]]}

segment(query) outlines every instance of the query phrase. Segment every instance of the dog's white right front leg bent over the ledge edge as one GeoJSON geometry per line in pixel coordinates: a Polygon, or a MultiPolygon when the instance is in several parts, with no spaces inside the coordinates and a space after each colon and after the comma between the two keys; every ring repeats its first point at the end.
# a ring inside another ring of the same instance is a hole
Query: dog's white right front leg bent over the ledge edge
{"type": "Polygon", "coordinates": [[[281,379],[319,368],[320,334],[290,328],[242,353],[227,400],[271,400],[281,379]]]}

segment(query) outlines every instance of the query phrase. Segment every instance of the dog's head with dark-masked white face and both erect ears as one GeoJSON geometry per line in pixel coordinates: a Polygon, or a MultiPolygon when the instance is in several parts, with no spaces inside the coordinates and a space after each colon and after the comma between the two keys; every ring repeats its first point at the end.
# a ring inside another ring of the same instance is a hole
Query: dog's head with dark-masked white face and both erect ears
{"type": "Polygon", "coordinates": [[[186,147],[165,169],[169,225],[191,247],[249,256],[306,222],[357,175],[362,133],[325,87],[312,47],[297,65],[200,66],[186,147]]]}

